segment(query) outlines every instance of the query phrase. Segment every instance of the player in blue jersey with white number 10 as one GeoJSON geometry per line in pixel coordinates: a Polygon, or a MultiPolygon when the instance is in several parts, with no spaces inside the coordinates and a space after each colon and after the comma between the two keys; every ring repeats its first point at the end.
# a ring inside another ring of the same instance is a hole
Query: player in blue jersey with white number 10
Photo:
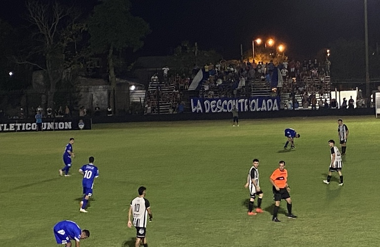
{"type": "Polygon", "coordinates": [[[94,163],[94,157],[88,158],[88,164],[83,165],[79,169],[79,173],[83,175],[82,186],[83,186],[83,200],[80,202],[79,212],[86,213],[86,206],[88,200],[92,196],[92,187],[94,186],[94,179],[99,176],[98,167],[94,163]]]}

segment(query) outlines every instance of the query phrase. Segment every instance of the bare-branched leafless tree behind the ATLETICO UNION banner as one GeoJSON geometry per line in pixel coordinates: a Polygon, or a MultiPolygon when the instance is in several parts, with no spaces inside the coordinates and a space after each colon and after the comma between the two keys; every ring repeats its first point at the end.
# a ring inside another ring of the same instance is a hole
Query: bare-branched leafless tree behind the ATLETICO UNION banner
{"type": "Polygon", "coordinates": [[[43,3],[29,0],[26,6],[27,20],[36,28],[32,38],[37,45],[19,56],[17,62],[31,64],[44,71],[47,104],[53,106],[57,83],[62,81],[63,72],[77,64],[75,58],[80,53],[76,43],[80,41],[84,24],[79,21],[80,14],[73,6],[67,7],[58,1],[43,3]]]}

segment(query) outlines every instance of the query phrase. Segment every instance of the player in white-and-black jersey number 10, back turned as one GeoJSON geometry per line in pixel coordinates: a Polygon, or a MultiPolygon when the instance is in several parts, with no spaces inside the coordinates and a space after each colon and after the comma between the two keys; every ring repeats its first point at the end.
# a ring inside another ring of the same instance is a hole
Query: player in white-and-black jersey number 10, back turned
{"type": "Polygon", "coordinates": [[[139,196],[132,200],[128,211],[128,227],[132,227],[131,215],[133,214],[133,225],[137,232],[135,247],[140,247],[141,243],[144,247],[148,247],[147,238],[145,237],[147,232],[147,219],[149,215],[149,221],[152,221],[153,215],[151,205],[149,201],[145,199],[146,190],[147,188],[144,186],[139,188],[139,196]]]}

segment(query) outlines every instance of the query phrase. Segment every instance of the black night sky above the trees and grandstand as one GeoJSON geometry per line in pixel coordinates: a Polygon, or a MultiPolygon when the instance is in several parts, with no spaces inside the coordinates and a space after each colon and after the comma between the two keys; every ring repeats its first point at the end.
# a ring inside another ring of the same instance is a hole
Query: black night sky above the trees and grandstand
{"type": "MultiPolygon", "coordinates": [[[[44,0],[49,1],[49,0],[44,0]]],[[[97,0],[76,2],[90,12],[97,0]]],[[[240,57],[240,44],[252,50],[253,38],[274,37],[297,59],[312,58],[339,38],[364,40],[364,0],[131,0],[132,13],[152,33],[138,55],[167,55],[181,41],[216,49],[226,59],[240,57]]],[[[380,43],[380,0],[368,0],[369,42],[380,43]]],[[[0,18],[22,22],[24,0],[1,0],[0,18]]],[[[333,51],[332,51],[333,52],[333,51]]]]}

